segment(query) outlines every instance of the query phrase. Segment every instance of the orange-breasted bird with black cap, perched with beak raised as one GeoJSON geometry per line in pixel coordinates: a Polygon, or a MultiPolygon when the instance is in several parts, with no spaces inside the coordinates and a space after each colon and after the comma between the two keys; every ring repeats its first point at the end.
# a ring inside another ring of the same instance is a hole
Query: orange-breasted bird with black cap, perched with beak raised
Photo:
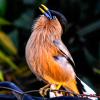
{"type": "Polygon", "coordinates": [[[61,86],[75,94],[96,94],[76,75],[74,60],[61,36],[66,31],[67,19],[60,12],[39,7],[42,15],[36,20],[26,44],[25,56],[31,71],[47,84],[61,86]]]}

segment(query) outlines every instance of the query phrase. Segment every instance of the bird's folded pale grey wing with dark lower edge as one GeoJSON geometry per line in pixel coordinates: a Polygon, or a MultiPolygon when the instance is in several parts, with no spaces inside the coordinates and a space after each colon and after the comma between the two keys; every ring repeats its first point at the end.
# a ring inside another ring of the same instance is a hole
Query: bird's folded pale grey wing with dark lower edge
{"type": "Polygon", "coordinates": [[[54,40],[53,43],[57,47],[57,49],[61,51],[61,53],[69,61],[69,63],[74,67],[74,60],[63,42],[61,40],[54,40]]]}

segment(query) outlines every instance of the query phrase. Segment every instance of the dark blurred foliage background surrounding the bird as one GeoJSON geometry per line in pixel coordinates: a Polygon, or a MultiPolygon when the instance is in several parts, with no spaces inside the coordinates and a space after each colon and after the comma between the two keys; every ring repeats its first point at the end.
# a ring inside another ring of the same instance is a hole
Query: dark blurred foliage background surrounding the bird
{"type": "Polygon", "coordinates": [[[100,93],[100,0],[0,0],[0,81],[13,81],[24,90],[44,85],[25,61],[25,45],[41,3],[67,18],[62,40],[74,58],[76,73],[100,93]]]}

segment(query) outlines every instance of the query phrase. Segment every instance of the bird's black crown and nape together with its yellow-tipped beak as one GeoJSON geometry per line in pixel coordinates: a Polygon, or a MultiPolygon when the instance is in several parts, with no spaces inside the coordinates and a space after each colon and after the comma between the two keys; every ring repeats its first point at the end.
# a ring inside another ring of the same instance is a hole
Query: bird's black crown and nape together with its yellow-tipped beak
{"type": "Polygon", "coordinates": [[[63,14],[61,14],[60,12],[54,11],[54,10],[49,10],[43,4],[41,4],[39,9],[49,21],[57,19],[62,26],[63,33],[66,31],[67,19],[65,18],[63,14]]]}

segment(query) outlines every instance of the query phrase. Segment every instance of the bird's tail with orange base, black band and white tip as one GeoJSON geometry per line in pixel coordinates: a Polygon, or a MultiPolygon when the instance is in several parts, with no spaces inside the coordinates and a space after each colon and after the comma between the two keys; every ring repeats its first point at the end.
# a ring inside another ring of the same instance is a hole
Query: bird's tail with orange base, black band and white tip
{"type": "Polygon", "coordinates": [[[76,76],[76,79],[70,81],[66,85],[67,91],[69,91],[73,95],[85,95],[92,100],[98,100],[96,97],[91,97],[91,95],[96,96],[96,92],[91,89],[86,83],[84,83],[80,78],[76,76]]]}

